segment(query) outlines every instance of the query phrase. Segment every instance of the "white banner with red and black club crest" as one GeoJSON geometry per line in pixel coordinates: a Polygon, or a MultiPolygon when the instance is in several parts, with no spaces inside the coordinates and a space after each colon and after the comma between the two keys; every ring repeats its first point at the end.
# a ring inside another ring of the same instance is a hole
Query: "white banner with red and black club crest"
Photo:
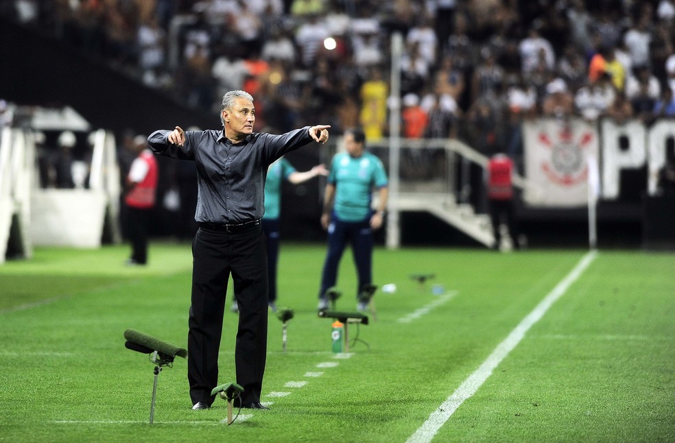
{"type": "Polygon", "coordinates": [[[582,119],[536,119],[523,125],[525,176],[537,189],[531,206],[573,208],[588,204],[587,158],[597,158],[595,125],[582,119]]]}

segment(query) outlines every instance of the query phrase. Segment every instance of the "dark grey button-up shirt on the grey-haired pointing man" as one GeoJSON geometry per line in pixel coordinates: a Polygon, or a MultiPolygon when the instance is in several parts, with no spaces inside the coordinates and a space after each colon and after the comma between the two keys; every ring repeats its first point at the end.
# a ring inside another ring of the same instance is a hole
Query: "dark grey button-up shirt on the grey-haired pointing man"
{"type": "Polygon", "coordinates": [[[195,220],[240,224],[263,217],[268,166],[283,154],[313,141],[309,126],[283,135],[254,132],[233,144],[222,130],[186,131],[182,146],[167,141],[170,130],[147,137],[157,154],[193,160],[197,167],[195,220]]]}

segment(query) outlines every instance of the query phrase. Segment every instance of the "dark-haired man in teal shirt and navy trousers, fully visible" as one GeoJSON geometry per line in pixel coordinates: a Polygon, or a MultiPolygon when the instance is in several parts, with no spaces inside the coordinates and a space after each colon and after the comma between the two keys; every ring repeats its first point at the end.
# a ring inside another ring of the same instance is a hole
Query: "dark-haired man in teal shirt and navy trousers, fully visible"
{"type": "MultiPolygon", "coordinates": [[[[331,161],[324,191],[321,225],[328,230],[328,253],[319,289],[320,310],[328,308],[326,291],[337,282],[337,267],[347,243],[351,243],[358,274],[357,299],[364,287],[372,284],[372,230],[382,226],[389,195],[387,173],[379,158],[365,151],[363,130],[346,130],[344,147],[346,152],[335,154],[331,161]],[[373,211],[375,190],[379,200],[373,211]]],[[[357,309],[365,311],[366,303],[359,301],[357,309]]]]}

